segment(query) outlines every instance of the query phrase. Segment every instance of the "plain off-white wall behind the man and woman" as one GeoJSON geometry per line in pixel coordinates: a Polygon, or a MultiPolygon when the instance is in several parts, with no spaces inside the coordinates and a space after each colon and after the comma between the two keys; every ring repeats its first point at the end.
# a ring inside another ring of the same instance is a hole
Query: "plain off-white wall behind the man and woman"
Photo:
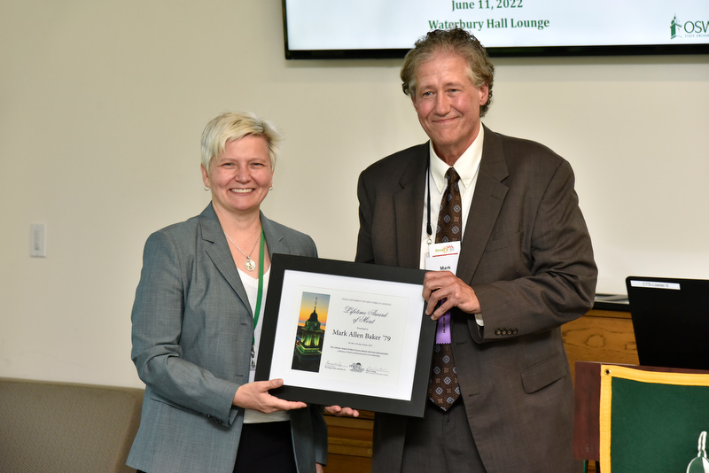
{"type": "MultiPolygon", "coordinates": [[[[129,313],[144,240],[208,202],[199,135],[219,112],[277,123],[264,212],[352,260],[357,175],[425,140],[400,64],[285,61],[277,1],[0,4],[0,376],[142,385],[129,313]],[[29,257],[32,223],[47,258],[29,257]]],[[[485,122],[572,162],[598,291],[709,278],[709,57],[495,64],[485,122]]]]}

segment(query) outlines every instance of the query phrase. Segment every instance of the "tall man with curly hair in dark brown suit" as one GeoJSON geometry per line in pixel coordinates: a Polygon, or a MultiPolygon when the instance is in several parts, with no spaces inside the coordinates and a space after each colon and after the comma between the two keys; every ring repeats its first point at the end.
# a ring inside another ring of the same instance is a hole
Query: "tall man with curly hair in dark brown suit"
{"type": "Polygon", "coordinates": [[[593,303],[593,250],[568,162],[480,122],[493,76],[464,30],[418,41],[401,80],[431,141],[360,176],[357,261],[426,268],[449,167],[463,218],[455,274],[430,271],[424,283],[426,314],[449,313],[452,405],[429,402],[423,419],[377,414],[375,472],[580,470],[560,326],[593,303]]]}

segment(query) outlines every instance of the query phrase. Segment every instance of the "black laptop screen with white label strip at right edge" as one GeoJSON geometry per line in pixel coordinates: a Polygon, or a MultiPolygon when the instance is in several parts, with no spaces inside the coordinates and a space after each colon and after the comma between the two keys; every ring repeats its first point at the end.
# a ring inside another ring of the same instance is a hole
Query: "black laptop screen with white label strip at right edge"
{"type": "Polygon", "coordinates": [[[709,370],[709,280],[628,276],[641,365],[709,370]]]}

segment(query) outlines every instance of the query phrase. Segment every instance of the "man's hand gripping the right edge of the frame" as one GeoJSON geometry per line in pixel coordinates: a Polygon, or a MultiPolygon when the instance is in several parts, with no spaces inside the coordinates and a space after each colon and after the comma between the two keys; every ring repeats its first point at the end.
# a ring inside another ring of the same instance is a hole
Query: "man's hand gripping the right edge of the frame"
{"type": "Polygon", "coordinates": [[[429,271],[424,276],[424,299],[428,303],[426,315],[437,321],[453,307],[468,314],[480,313],[478,296],[471,286],[450,271],[429,271]],[[440,306],[437,306],[440,302],[440,306]]]}

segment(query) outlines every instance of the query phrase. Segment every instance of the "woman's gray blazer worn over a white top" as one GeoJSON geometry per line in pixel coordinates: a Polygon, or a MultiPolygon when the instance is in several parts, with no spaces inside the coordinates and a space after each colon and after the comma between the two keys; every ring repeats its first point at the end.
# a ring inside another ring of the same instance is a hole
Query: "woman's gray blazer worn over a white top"
{"type": "MultiPolygon", "coordinates": [[[[269,253],[316,256],[313,240],[261,214],[269,253]]],[[[133,351],[145,395],[128,465],[149,473],[231,472],[248,382],[253,309],[212,205],[153,233],[132,313],[133,351]]],[[[291,411],[298,471],[325,463],[319,407],[291,411]]]]}

